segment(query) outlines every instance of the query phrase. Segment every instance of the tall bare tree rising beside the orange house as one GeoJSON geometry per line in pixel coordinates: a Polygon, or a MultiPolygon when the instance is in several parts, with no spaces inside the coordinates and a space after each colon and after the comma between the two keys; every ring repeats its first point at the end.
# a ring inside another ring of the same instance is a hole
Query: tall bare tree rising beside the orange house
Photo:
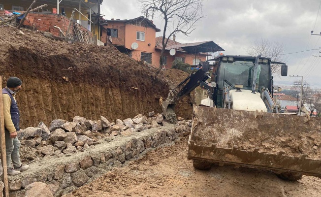
{"type": "Polygon", "coordinates": [[[137,0],[146,18],[159,16],[164,20],[162,49],[160,52],[160,67],[163,65],[168,39],[177,33],[188,35],[195,30],[195,24],[203,18],[203,0],[137,0]],[[173,27],[173,28],[171,28],[173,27]],[[166,38],[166,33],[168,36],[166,38]]]}

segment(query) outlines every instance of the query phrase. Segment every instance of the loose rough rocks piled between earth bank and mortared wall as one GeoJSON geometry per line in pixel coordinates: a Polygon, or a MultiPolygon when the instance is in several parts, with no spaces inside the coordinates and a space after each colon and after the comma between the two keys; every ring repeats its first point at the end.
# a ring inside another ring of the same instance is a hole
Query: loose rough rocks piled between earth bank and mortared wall
{"type": "MultiPolygon", "coordinates": [[[[137,115],[125,120],[117,119],[110,123],[105,117],[92,121],[84,117],[75,116],[72,122],[53,120],[49,128],[40,123],[38,127],[20,130],[18,138],[21,140],[21,156],[23,162],[32,161],[48,156],[63,156],[64,154],[83,152],[101,140],[112,140],[115,136],[128,136],[135,132],[157,128],[169,124],[162,114],[149,113],[149,117],[137,115]]],[[[191,126],[191,120],[178,117],[178,124],[191,126]]]]}

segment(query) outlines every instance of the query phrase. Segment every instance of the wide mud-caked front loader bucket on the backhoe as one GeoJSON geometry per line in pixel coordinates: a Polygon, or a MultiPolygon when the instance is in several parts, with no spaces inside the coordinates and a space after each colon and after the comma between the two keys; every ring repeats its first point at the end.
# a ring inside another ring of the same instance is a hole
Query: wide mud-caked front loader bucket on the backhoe
{"type": "Polygon", "coordinates": [[[321,118],[194,106],[188,159],[321,177],[321,118]]]}

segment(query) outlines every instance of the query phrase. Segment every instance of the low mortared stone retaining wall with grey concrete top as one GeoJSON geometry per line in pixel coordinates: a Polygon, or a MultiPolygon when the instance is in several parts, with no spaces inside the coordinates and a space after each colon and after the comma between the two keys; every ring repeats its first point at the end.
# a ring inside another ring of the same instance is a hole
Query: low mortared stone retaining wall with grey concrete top
{"type": "Polygon", "coordinates": [[[39,181],[46,183],[55,197],[60,197],[90,183],[112,167],[121,167],[126,161],[137,159],[151,148],[177,140],[189,131],[190,127],[186,124],[166,124],[128,136],[102,139],[101,143],[84,152],[60,157],[46,155],[30,164],[29,170],[9,177],[10,195],[24,196],[24,188],[39,181]]]}

